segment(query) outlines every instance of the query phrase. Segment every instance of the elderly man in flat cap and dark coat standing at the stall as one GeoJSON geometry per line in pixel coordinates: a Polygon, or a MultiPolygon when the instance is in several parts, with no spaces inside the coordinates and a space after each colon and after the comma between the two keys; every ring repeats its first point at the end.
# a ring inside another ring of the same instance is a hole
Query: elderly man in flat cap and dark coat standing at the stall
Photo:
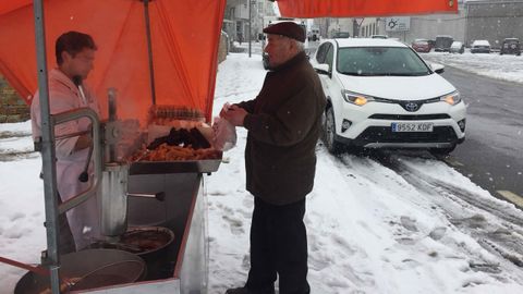
{"type": "Polygon", "coordinates": [[[313,189],[320,118],[326,99],[293,22],[264,29],[271,71],[258,96],[220,114],[248,131],[246,188],[254,195],[251,270],[243,287],[227,294],[309,293],[305,196],[313,189]]]}

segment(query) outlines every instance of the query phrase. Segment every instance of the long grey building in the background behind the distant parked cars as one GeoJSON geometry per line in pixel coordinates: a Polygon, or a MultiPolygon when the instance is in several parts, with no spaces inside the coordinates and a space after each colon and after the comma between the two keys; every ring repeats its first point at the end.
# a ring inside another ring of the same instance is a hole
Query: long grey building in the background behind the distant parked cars
{"type": "Polygon", "coordinates": [[[523,0],[460,0],[458,14],[317,19],[314,22],[324,37],[331,37],[335,32],[351,32],[353,37],[387,35],[411,44],[418,38],[434,40],[438,35],[450,35],[466,46],[476,39],[486,39],[492,48],[499,48],[504,38],[523,41],[523,0]],[[398,29],[397,19],[408,22],[408,28],[398,29]]]}

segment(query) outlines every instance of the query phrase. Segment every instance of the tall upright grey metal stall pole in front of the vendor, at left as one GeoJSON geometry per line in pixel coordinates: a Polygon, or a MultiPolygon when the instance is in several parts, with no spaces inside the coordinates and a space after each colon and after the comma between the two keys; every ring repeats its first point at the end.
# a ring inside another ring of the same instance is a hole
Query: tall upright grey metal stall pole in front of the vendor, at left
{"type": "Polygon", "coordinates": [[[44,169],[44,194],[46,206],[47,253],[42,254],[42,264],[48,265],[50,284],[53,294],[60,293],[60,258],[58,255],[58,186],[54,166],[54,134],[49,110],[49,85],[47,77],[46,32],[44,26],[42,0],[34,0],[36,61],[38,71],[38,90],[41,117],[41,161],[44,169]]]}

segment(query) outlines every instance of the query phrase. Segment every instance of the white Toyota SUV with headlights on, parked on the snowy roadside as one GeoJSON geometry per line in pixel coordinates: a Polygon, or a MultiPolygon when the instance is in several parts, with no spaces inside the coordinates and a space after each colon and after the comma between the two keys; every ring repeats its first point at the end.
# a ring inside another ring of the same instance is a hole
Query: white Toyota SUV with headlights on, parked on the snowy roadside
{"type": "Polygon", "coordinates": [[[422,148],[449,154],[465,138],[459,91],[409,46],[391,39],[325,40],[311,59],[328,99],[324,140],[337,154],[422,148]]]}

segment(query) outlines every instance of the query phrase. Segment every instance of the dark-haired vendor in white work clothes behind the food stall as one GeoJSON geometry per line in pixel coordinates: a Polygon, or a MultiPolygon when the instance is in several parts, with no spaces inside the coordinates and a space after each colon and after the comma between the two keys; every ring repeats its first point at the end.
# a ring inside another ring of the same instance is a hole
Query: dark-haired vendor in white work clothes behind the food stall
{"type": "MultiPolygon", "coordinates": [[[[56,41],[58,68],[49,72],[50,113],[88,107],[99,113],[98,101],[88,86],[82,81],[93,70],[97,47],[89,35],[78,32],[62,34],[56,41]]],[[[41,117],[39,93],[34,96],[31,106],[33,138],[41,137],[41,117]]],[[[86,118],[58,124],[54,127],[57,182],[59,203],[86,191],[93,176],[81,182],[78,176],[90,160],[89,148],[93,139],[89,134],[60,138],[62,135],[90,130],[86,118]]],[[[92,167],[93,164],[89,164],[92,167]]],[[[90,174],[90,169],[87,170],[90,174]]],[[[66,254],[82,249],[99,236],[99,212],[96,197],[69,210],[66,219],[59,217],[59,253],[66,254]]]]}

